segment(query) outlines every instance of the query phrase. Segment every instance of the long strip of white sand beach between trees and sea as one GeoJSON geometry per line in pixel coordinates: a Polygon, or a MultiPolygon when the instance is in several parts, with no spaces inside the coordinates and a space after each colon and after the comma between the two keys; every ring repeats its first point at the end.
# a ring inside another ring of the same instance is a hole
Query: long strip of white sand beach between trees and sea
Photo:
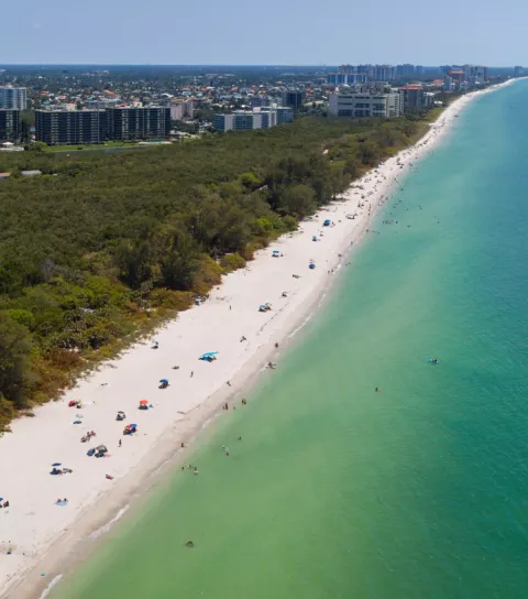
{"type": "Polygon", "coordinates": [[[44,597],[45,588],[94,548],[95,533],[103,536],[112,523],[109,521],[124,514],[131,502],[146,499],[145,488],[163,483],[158,475],[185,458],[187,449],[182,451],[180,443],[187,447],[220,414],[223,403],[252,388],[262,377],[263,364],[276,353],[274,344],[279,342],[279,352],[287,348],[324,302],[334,286],[333,275],[365,237],[371,219],[391,199],[399,177],[436,148],[472,99],[514,81],[457,99],[414,146],[355,181],[343,194],[344,200],[320,209],[300,224],[299,232],[258,251],[246,269],[223,277],[206,304],[168,323],[155,335],[160,349],[135,344],[119,359],[79,380],[57,402],[35,410],[35,418],[13,423],[13,433],[0,439],[3,455],[16,456],[12,460],[16,464],[0,465],[0,491],[11,503],[0,513],[0,597],[44,597]],[[358,202],[364,203],[363,208],[358,202]],[[346,219],[346,214],[354,213],[354,220],[346,219]],[[324,228],[321,237],[326,218],[336,219],[336,226],[324,228]],[[311,241],[312,236],[317,242],[311,241]],[[284,258],[272,258],[274,249],[284,258]],[[310,259],[316,261],[315,271],[308,269],[310,259]],[[293,279],[292,274],[301,276],[293,279]],[[287,298],[280,297],[283,291],[288,292],[287,298]],[[261,314],[257,307],[265,302],[274,309],[261,314]],[[246,341],[240,341],[241,335],[246,341]],[[200,353],[217,350],[218,361],[198,362],[200,353]],[[170,369],[174,363],[179,370],[170,369]],[[167,390],[157,389],[161,377],[169,378],[167,390]],[[145,396],[154,410],[138,412],[138,402],[145,396]],[[67,402],[77,397],[84,400],[85,407],[67,407],[67,402]],[[128,413],[125,423],[139,423],[135,438],[121,437],[121,423],[114,422],[118,410],[128,413]],[[81,424],[72,426],[77,413],[84,416],[81,424]],[[92,445],[107,444],[110,459],[86,457],[91,444],[79,446],[86,427],[97,431],[92,445]],[[30,435],[29,447],[24,440],[30,435]],[[123,439],[119,449],[118,438],[123,439]],[[63,460],[74,473],[51,477],[50,465],[55,460],[63,460]],[[114,480],[106,480],[106,472],[114,480]],[[54,505],[56,497],[68,497],[68,505],[54,505]],[[94,509],[99,502],[101,505],[94,509]],[[9,556],[7,548],[2,551],[8,544],[13,547],[9,556]],[[64,568],[61,563],[70,565],[64,568]],[[46,576],[41,577],[41,571],[46,576]]]}

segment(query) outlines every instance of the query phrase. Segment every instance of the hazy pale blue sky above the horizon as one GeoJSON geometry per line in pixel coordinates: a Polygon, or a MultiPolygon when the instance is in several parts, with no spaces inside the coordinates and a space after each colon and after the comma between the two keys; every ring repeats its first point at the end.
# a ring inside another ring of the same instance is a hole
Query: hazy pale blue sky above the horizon
{"type": "Polygon", "coordinates": [[[0,64],[528,65],[526,0],[4,4],[0,64]]]}

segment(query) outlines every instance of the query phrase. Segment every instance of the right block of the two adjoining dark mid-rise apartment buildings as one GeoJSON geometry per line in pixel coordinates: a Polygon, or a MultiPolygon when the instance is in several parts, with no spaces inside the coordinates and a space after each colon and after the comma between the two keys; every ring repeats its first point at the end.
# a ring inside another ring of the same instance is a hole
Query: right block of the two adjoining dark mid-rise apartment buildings
{"type": "Polygon", "coordinates": [[[170,108],[109,108],[108,137],[111,140],[141,140],[168,138],[170,108]]]}

